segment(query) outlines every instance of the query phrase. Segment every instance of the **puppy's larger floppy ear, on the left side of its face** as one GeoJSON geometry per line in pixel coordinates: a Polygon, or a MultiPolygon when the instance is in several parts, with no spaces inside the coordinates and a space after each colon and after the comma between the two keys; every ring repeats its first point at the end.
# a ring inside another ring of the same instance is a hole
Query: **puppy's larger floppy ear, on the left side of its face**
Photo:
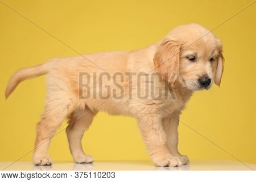
{"type": "Polygon", "coordinates": [[[154,56],[154,65],[160,76],[171,83],[175,84],[179,75],[181,44],[175,41],[164,41],[160,44],[154,56]]]}

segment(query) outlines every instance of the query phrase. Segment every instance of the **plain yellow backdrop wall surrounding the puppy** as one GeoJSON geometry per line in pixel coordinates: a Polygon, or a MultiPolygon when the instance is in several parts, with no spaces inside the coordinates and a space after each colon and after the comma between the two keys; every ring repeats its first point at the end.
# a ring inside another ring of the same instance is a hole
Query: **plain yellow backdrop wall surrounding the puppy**
{"type": "MultiPolygon", "coordinates": [[[[3,1],[80,53],[142,48],[180,24],[211,29],[252,2],[3,1]]],[[[255,15],[254,3],[213,31],[224,43],[221,88],[196,92],[181,115],[181,121],[250,163],[256,163],[255,15]]],[[[0,51],[0,160],[15,160],[33,148],[46,86],[44,77],[24,81],[5,100],[7,81],[19,68],[77,52],[1,2],[0,51]]],[[[180,151],[190,159],[236,160],[183,123],[179,133],[180,151]]],[[[83,146],[96,160],[149,159],[137,123],[128,117],[98,114],[83,146]]],[[[64,131],[53,138],[49,153],[55,161],[72,160],[64,131]]]]}

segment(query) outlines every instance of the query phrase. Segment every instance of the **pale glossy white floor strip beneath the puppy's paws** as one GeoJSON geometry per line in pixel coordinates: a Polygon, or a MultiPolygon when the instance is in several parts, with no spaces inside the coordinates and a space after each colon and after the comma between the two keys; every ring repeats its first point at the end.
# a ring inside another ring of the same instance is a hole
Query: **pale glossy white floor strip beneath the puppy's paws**
{"type": "Polygon", "coordinates": [[[71,162],[55,162],[52,166],[33,166],[31,162],[0,162],[0,169],[3,170],[75,170],[75,171],[152,171],[152,170],[173,170],[173,171],[187,171],[187,170],[255,170],[256,164],[242,163],[239,161],[230,160],[195,160],[185,166],[181,167],[154,167],[150,162],[100,162],[96,161],[93,164],[75,164],[71,162]]]}

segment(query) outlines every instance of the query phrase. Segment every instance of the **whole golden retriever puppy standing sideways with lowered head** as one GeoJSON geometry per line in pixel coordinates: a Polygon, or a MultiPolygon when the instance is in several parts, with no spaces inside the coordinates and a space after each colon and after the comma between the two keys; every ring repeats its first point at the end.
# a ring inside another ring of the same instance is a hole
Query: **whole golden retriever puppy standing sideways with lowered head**
{"type": "Polygon", "coordinates": [[[179,115],[195,90],[220,85],[222,45],[199,24],[174,28],[159,42],[135,51],[56,58],[14,74],[6,98],[19,82],[47,74],[46,107],[36,125],[33,163],[51,165],[48,148],[65,118],[76,163],[92,163],[81,138],[98,111],[128,115],[138,127],[156,166],[189,163],[177,150],[179,115]]]}

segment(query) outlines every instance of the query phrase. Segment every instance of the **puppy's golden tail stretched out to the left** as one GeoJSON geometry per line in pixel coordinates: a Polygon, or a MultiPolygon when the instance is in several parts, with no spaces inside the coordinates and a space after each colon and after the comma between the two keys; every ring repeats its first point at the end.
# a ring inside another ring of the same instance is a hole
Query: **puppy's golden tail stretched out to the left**
{"type": "Polygon", "coordinates": [[[34,78],[40,75],[44,75],[49,71],[49,62],[35,65],[34,67],[22,68],[19,69],[16,73],[14,73],[13,77],[11,77],[6,90],[5,90],[5,98],[7,99],[11,93],[15,90],[16,86],[19,85],[20,82],[26,80],[27,78],[34,78]]]}

